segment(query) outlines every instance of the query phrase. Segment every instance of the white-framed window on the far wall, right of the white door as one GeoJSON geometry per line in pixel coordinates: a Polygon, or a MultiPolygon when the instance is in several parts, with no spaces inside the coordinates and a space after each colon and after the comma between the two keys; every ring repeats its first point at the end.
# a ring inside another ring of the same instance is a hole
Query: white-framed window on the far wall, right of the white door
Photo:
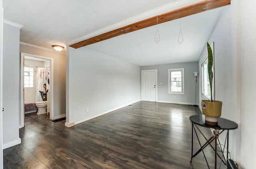
{"type": "Polygon", "coordinates": [[[184,94],[184,68],[168,69],[169,93],[184,94]]]}

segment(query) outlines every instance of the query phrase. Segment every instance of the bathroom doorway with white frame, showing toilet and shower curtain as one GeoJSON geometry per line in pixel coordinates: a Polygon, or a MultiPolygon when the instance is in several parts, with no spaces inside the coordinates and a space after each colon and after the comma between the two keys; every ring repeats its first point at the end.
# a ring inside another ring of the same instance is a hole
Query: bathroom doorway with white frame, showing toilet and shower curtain
{"type": "Polygon", "coordinates": [[[24,127],[26,113],[37,112],[49,114],[50,120],[53,112],[53,58],[21,53],[21,126],[24,127]],[[39,81],[41,80],[42,82],[39,81]],[[42,84],[41,84],[42,83],[42,84]],[[47,103],[47,105],[46,105],[47,103]],[[45,104],[46,107],[42,107],[45,104]],[[40,110],[40,111],[39,111],[40,110]]]}

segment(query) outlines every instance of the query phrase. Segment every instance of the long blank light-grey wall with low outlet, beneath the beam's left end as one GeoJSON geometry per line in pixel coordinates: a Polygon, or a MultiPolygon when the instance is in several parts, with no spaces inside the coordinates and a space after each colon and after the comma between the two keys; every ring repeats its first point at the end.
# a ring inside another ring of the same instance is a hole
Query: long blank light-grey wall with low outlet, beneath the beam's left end
{"type": "Polygon", "coordinates": [[[87,47],[68,48],[66,126],[140,100],[139,66],[87,47]]]}

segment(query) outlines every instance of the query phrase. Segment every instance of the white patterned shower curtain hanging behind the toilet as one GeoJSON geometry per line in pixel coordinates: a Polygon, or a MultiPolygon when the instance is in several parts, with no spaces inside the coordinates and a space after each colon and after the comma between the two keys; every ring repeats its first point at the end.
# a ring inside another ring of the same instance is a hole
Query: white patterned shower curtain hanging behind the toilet
{"type": "Polygon", "coordinates": [[[50,68],[40,67],[36,70],[36,102],[43,101],[39,91],[50,92],[50,68]]]}

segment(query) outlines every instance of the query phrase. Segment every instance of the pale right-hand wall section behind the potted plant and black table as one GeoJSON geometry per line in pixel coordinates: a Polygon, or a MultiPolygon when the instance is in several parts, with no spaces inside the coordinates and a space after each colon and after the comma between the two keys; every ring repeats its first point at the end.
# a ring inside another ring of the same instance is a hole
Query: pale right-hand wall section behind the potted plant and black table
{"type": "MultiPolygon", "coordinates": [[[[214,42],[214,92],[215,100],[222,101],[221,117],[235,121],[238,124],[238,129],[230,131],[229,151],[231,152],[231,158],[238,163],[243,163],[240,159],[240,147],[242,148],[242,146],[244,146],[241,144],[242,132],[240,125],[242,122],[240,122],[240,118],[244,116],[244,114],[240,111],[240,18],[239,5],[237,3],[236,1],[232,1],[230,6],[225,7],[208,42],[214,42]]],[[[206,53],[207,48],[205,43],[205,49],[198,62],[199,69],[201,69],[201,64],[206,57],[206,53]]],[[[202,73],[200,73],[200,75],[201,74],[202,73]]],[[[201,76],[199,81],[200,100],[205,100],[201,95],[201,76]]],[[[225,137],[223,135],[220,139],[224,143],[225,137]]],[[[246,153],[250,154],[248,151],[246,153]]]]}

